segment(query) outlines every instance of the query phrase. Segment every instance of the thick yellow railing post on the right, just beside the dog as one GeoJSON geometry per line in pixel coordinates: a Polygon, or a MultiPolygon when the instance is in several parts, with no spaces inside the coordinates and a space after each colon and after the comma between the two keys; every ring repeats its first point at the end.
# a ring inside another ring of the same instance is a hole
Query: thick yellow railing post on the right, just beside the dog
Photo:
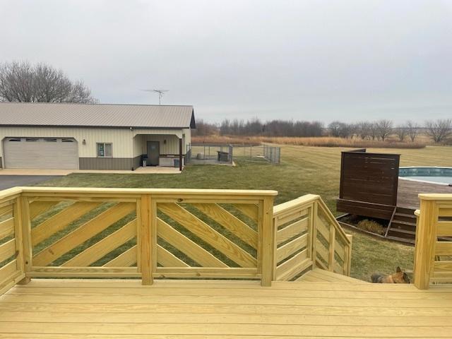
{"type": "Polygon", "coordinates": [[[415,286],[427,290],[430,285],[430,273],[434,263],[436,242],[436,221],[438,208],[436,201],[420,198],[420,216],[416,227],[415,267],[413,276],[415,286]]]}

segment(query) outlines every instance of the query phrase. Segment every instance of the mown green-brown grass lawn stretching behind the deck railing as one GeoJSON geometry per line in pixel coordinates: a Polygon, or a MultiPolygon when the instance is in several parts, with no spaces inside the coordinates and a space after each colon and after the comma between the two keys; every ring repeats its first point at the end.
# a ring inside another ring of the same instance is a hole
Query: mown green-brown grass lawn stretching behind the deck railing
{"type": "MultiPolygon", "coordinates": [[[[281,145],[280,165],[237,160],[236,167],[187,166],[182,174],[70,174],[39,186],[191,188],[191,189],[274,189],[275,203],[304,194],[319,194],[335,213],[339,194],[340,151],[281,145]]],[[[401,166],[452,167],[452,148],[369,149],[368,152],[400,153],[401,166]]],[[[349,232],[349,231],[347,231],[349,232]]],[[[369,280],[376,271],[393,273],[396,266],[412,269],[413,248],[351,232],[353,239],[352,276],[369,280]]]]}

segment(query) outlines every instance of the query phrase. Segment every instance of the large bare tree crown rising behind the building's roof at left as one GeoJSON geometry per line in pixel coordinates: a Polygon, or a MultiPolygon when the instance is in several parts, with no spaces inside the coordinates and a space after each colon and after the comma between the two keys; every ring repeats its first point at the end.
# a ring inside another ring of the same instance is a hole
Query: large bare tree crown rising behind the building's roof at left
{"type": "Polygon", "coordinates": [[[28,61],[0,64],[0,101],[93,103],[82,81],[71,81],[61,69],[28,61]]]}

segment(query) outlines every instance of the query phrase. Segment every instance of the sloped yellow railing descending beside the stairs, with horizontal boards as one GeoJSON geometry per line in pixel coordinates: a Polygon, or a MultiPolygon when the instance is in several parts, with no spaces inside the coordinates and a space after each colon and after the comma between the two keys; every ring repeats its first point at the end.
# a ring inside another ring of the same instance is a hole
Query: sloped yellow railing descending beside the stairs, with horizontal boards
{"type": "Polygon", "coordinates": [[[320,196],[308,194],[273,209],[275,280],[297,280],[313,267],[350,275],[352,237],[320,196]]]}

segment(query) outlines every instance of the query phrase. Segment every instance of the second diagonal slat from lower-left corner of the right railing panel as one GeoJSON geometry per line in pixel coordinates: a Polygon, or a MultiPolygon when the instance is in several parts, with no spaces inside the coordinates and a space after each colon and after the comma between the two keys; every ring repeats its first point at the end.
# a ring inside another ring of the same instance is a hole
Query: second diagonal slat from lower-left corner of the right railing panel
{"type": "Polygon", "coordinates": [[[165,221],[157,218],[157,236],[164,239],[165,242],[172,244],[179,251],[192,258],[196,263],[204,267],[228,267],[220,259],[215,258],[201,246],[192,242],[183,234],[174,230],[165,221]]]}

